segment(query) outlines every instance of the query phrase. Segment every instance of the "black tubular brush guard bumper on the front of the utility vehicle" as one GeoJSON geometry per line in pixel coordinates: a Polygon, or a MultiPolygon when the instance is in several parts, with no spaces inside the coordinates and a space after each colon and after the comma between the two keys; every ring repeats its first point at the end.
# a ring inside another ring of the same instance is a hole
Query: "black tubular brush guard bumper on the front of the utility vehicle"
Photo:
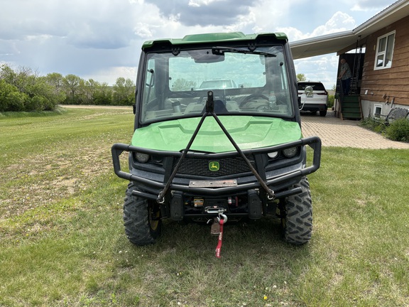
{"type": "MultiPolygon", "coordinates": [[[[267,154],[271,153],[274,151],[282,151],[283,149],[288,149],[291,147],[295,146],[310,146],[314,153],[313,153],[313,158],[312,158],[312,165],[306,166],[303,168],[297,168],[297,169],[291,169],[288,168],[287,171],[284,173],[279,173],[276,176],[271,176],[268,177],[266,176],[264,182],[268,187],[276,187],[283,185],[286,182],[291,182],[294,181],[297,178],[301,178],[302,176],[307,176],[310,173],[313,173],[317,171],[318,168],[320,168],[320,161],[321,161],[321,140],[317,136],[311,136],[307,137],[305,139],[300,139],[297,141],[292,141],[290,143],[286,144],[280,144],[276,146],[270,146],[270,147],[265,147],[261,149],[249,149],[249,150],[244,150],[243,154],[245,155],[251,155],[251,154],[267,154]]],[[[134,191],[137,195],[142,196],[144,198],[152,199],[152,200],[158,200],[158,194],[156,194],[156,191],[161,191],[165,188],[165,185],[167,184],[166,178],[163,178],[163,181],[157,181],[154,180],[153,177],[149,178],[149,176],[139,176],[136,175],[135,173],[127,173],[124,171],[121,171],[121,163],[119,156],[124,152],[138,152],[142,154],[149,154],[152,156],[161,156],[161,157],[173,157],[173,158],[180,158],[182,156],[182,152],[175,152],[175,151],[156,151],[152,149],[143,149],[140,147],[136,146],[131,146],[127,144],[114,144],[111,148],[111,153],[112,153],[112,161],[114,163],[114,172],[116,176],[119,176],[119,178],[124,178],[128,181],[134,181],[136,183],[139,183],[142,185],[144,188],[143,190],[150,190],[152,193],[149,192],[143,192],[143,191],[134,191]],[[155,191],[155,192],[153,192],[155,191]]],[[[232,151],[229,153],[221,153],[221,154],[206,154],[206,157],[209,158],[209,160],[217,160],[218,158],[226,157],[226,156],[234,156],[236,155],[236,151],[232,151]]],[[[186,155],[186,158],[194,158],[197,156],[197,153],[195,152],[188,152],[186,155]]],[[[305,161],[304,161],[305,162],[305,161]]],[[[264,175],[265,176],[265,175],[264,175]]],[[[253,189],[259,189],[262,188],[261,183],[259,183],[256,178],[254,178],[251,181],[239,181],[237,180],[235,184],[227,184],[224,186],[221,183],[217,183],[216,187],[212,185],[212,182],[215,182],[214,180],[210,179],[208,180],[210,183],[209,186],[205,185],[200,185],[199,187],[195,187],[194,184],[185,184],[185,183],[176,183],[175,180],[170,183],[170,190],[173,191],[180,191],[182,193],[189,193],[192,195],[206,195],[210,197],[215,197],[219,195],[232,195],[235,193],[242,193],[248,190],[253,190],[253,189]]],[[[293,195],[296,193],[300,193],[299,190],[293,189],[293,190],[283,190],[280,193],[276,193],[275,197],[276,198],[283,198],[288,195],[293,195]]]]}

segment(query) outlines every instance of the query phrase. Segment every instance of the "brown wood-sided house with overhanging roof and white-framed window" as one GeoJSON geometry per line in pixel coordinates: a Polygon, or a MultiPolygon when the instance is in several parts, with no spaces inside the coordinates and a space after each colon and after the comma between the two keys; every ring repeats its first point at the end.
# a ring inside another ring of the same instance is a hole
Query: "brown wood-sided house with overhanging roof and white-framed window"
{"type": "Polygon", "coordinates": [[[339,117],[378,117],[393,107],[409,109],[408,25],[409,0],[400,0],[351,31],[295,41],[290,47],[295,59],[327,53],[346,58],[353,72],[348,98],[356,100],[359,110],[355,117],[340,101],[339,117]]]}

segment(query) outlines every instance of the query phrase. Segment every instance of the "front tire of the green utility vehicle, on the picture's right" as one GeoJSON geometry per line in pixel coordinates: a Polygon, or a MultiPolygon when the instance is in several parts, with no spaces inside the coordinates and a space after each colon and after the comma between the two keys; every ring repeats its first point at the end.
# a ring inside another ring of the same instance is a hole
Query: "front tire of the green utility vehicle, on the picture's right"
{"type": "Polygon", "coordinates": [[[283,216],[283,231],[285,242],[305,244],[311,239],[312,233],[312,200],[310,184],[303,177],[294,188],[301,188],[300,194],[291,195],[285,199],[285,208],[281,208],[283,216]],[[284,213],[284,214],[283,214],[284,213]]]}

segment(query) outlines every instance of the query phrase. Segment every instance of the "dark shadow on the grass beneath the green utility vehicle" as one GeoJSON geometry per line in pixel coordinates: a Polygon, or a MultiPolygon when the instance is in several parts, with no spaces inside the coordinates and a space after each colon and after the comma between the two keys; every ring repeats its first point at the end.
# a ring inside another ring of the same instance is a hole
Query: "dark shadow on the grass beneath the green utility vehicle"
{"type": "MultiPolygon", "coordinates": [[[[218,237],[210,235],[210,225],[163,221],[162,235],[156,244],[137,247],[126,239],[119,238],[118,248],[129,249],[136,257],[149,255],[151,259],[175,257],[188,264],[196,261],[211,261],[215,257],[218,237]]],[[[309,244],[294,246],[282,239],[280,221],[274,217],[264,217],[257,221],[227,222],[224,225],[222,262],[269,262],[276,259],[290,262],[295,257],[309,255],[309,244]]]]}

